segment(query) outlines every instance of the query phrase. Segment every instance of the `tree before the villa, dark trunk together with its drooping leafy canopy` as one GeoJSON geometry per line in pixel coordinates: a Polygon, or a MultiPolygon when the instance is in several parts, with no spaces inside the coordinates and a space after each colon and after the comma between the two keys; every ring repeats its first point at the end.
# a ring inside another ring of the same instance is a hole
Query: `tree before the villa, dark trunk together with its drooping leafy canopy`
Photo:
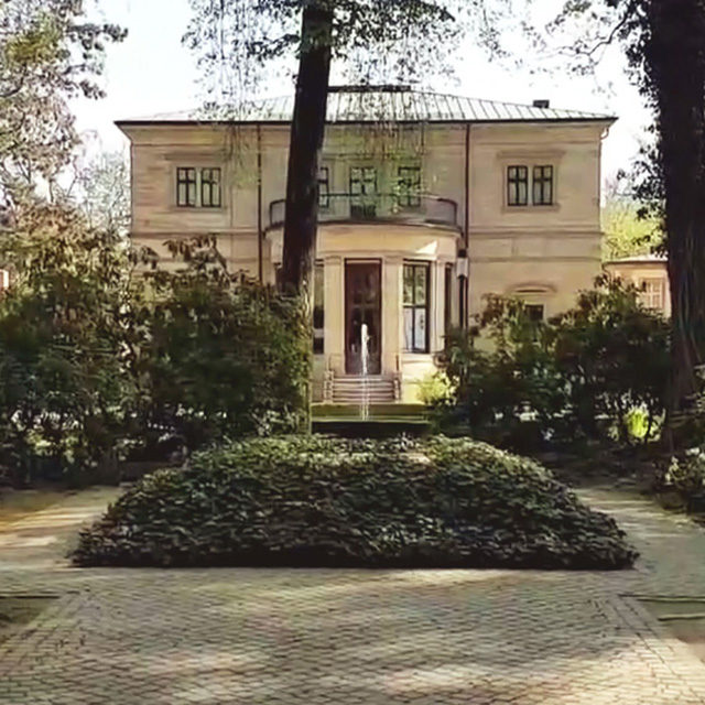
{"type": "Polygon", "coordinates": [[[486,43],[495,41],[492,28],[509,2],[490,9],[482,0],[192,0],[192,7],[184,40],[210,78],[212,107],[241,108],[268,61],[297,56],[282,284],[310,295],[332,59],[365,82],[437,75],[460,29],[476,26],[486,43]]]}

